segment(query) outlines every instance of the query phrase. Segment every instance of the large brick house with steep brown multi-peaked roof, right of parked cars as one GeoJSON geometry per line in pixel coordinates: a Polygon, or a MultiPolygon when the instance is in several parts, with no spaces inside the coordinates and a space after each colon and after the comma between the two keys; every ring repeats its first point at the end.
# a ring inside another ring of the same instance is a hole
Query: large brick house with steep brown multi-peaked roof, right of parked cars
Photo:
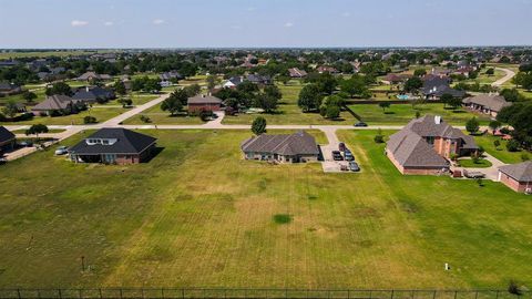
{"type": "Polygon", "coordinates": [[[469,155],[478,148],[471,136],[441,116],[426,115],[391,135],[386,154],[401,174],[438,175],[449,172],[452,156],[469,155]]]}

